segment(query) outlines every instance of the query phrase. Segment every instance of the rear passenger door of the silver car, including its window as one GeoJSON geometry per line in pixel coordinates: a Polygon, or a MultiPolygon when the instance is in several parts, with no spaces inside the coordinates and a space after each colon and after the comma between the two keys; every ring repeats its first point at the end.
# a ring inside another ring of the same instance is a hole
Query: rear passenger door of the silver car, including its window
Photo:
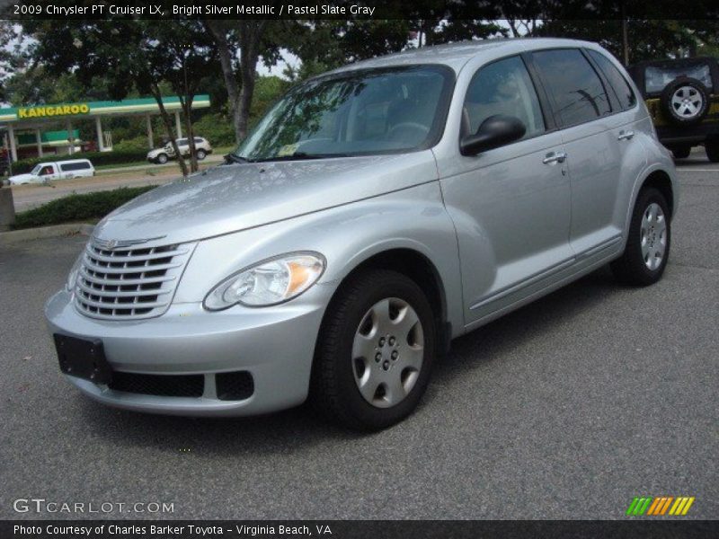
{"type": "Polygon", "coordinates": [[[578,261],[602,256],[621,242],[617,200],[622,177],[618,130],[609,92],[581,49],[532,52],[562,128],[571,178],[570,243],[578,261]]]}

